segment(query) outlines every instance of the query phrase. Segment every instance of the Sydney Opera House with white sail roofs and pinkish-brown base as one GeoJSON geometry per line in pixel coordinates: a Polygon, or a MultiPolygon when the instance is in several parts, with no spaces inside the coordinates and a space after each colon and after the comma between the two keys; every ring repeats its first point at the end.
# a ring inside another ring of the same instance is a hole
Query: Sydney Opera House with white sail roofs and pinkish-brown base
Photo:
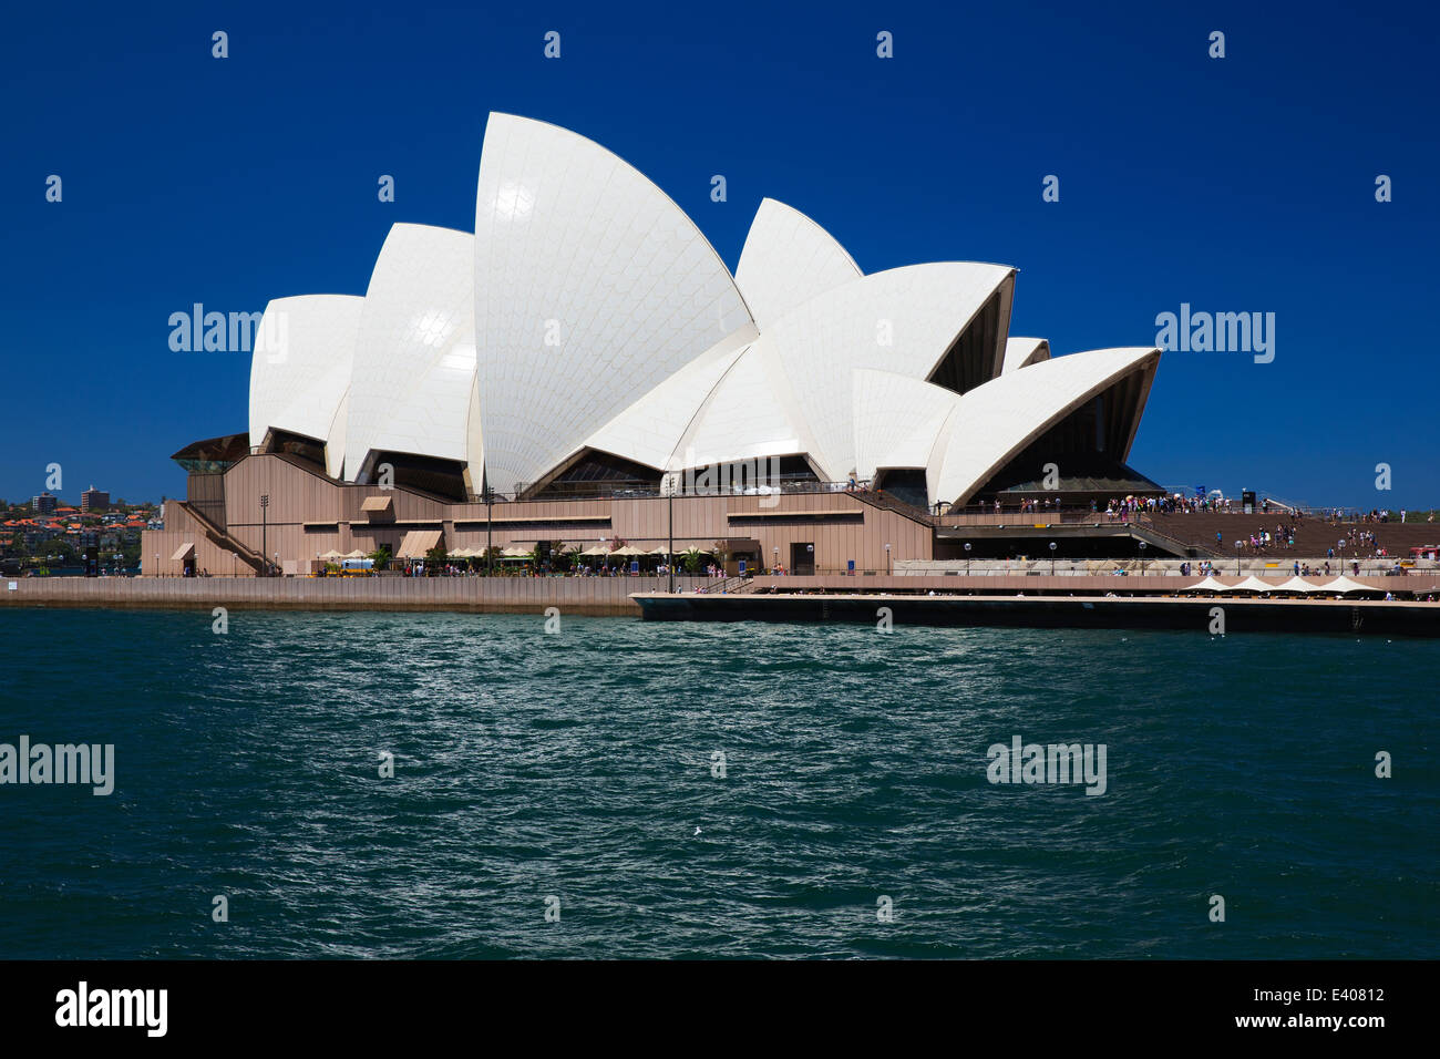
{"type": "Polygon", "coordinates": [[[732,275],[624,160],[491,114],[474,232],[397,223],[363,294],[266,305],[249,429],[176,454],[145,572],[671,539],[884,569],[956,548],[936,516],[1155,491],[1126,460],[1159,349],[1051,356],[1014,292],[1008,265],[867,275],[770,199],[732,275]]]}

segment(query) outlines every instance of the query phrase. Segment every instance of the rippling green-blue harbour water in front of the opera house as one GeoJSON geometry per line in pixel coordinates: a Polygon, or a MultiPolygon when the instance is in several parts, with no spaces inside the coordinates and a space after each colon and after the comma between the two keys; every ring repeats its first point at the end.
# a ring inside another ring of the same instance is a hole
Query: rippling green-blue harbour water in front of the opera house
{"type": "Polygon", "coordinates": [[[1440,643],[562,621],[0,611],[0,957],[1440,955],[1440,643]]]}

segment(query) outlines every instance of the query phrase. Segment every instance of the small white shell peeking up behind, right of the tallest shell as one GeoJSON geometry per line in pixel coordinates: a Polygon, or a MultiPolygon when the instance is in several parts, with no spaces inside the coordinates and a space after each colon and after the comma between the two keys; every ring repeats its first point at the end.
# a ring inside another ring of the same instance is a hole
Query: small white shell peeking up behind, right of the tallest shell
{"type": "Polygon", "coordinates": [[[783,202],[765,199],[750,222],[734,281],[765,330],[818,294],[864,272],[824,228],[783,202]]]}

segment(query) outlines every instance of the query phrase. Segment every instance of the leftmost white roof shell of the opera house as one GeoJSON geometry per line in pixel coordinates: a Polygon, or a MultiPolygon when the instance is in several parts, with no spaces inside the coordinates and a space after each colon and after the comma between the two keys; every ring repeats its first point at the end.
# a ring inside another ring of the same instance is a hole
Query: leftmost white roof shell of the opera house
{"type": "Polygon", "coordinates": [[[325,442],[330,474],[344,461],[344,408],[364,298],[304,294],[265,305],[251,356],[251,444],[271,429],[325,442]]]}

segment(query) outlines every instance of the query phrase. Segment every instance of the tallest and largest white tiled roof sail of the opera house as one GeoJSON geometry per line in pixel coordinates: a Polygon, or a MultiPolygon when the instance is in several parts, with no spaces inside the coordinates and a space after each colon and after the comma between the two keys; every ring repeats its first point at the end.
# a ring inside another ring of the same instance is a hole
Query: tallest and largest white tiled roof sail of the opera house
{"type": "Polygon", "coordinates": [[[474,259],[487,473],[503,490],[753,323],[664,192],[599,144],[510,114],[485,130],[474,259]]]}

